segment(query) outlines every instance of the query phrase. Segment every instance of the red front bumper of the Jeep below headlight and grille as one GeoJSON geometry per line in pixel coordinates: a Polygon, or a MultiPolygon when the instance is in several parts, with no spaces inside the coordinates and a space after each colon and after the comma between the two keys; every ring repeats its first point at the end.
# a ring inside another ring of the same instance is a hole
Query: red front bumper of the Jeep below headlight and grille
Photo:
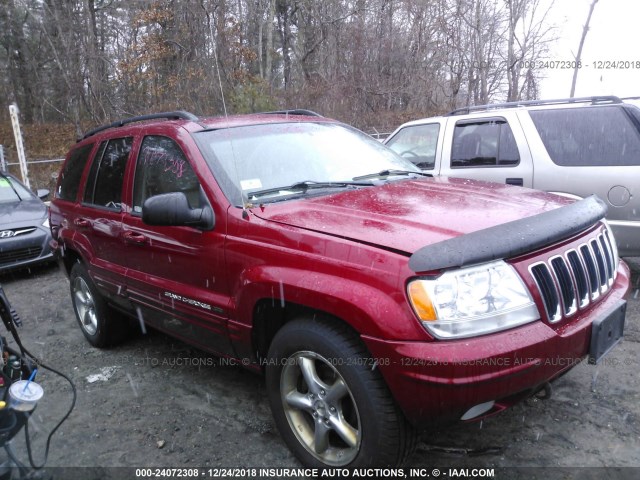
{"type": "Polygon", "coordinates": [[[592,322],[626,298],[629,276],[621,262],[607,297],[564,325],[552,327],[540,320],[456,341],[363,340],[412,424],[457,421],[470,408],[495,402],[476,420],[536,393],[580,363],[589,352],[592,322]]]}

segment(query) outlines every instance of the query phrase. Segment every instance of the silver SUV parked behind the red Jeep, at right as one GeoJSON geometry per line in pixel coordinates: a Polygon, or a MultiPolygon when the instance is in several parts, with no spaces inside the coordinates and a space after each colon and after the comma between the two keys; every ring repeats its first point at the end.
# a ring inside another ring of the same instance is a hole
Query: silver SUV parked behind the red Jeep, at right
{"type": "Polygon", "coordinates": [[[640,255],[640,109],[617,97],[468,107],[384,142],[426,172],[608,204],[620,254],[640,255]]]}

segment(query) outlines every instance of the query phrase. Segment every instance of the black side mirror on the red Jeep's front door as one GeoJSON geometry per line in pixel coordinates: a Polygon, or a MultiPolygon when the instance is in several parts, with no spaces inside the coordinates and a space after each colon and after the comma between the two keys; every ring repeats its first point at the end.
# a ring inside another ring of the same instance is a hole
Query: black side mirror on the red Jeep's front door
{"type": "Polygon", "coordinates": [[[182,192],[147,198],[142,205],[142,221],[147,225],[195,227],[202,230],[211,230],[215,225],[211,207],[191,208],[187,196],[182,192]]]}

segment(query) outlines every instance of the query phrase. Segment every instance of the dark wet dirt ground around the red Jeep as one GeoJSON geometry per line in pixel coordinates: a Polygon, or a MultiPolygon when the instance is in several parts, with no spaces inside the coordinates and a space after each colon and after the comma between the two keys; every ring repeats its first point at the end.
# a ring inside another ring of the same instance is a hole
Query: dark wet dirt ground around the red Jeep
{"type": "MultiPolygon", "coordinates": [[[[640,467],[640,262],[634,268],[625,340],[603,364],[574,368],[548,401],[530,399],[481,423],[428,432],[407,468],[640,467]]],[[[275,430],[261,377],[157,332],[110,350],[92,348],[57,267],[0,282],[23,319],[25,346],[77,386],[76,408],[53,437],[49,467],[299,467],[275,430]]],[[[49,372],[38,378],[45,398],[31,433],[41,462],[46,434],[71,394],[49,372]]],[[[22,437],[14,447],[26,462],[22,437]]],[[[638,478],[634,470],[609,478],[638,478]]],[[[115,475],[87,469],[82,476],[90,473],[115,475]]],[[[526,476],[574,474],[571,468],[526,476]]]]}

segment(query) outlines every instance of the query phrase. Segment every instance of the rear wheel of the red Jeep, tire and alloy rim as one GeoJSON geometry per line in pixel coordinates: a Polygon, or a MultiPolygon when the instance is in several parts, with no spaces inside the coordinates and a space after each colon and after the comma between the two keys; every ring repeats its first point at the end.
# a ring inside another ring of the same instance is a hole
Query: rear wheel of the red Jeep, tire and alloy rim
{"type": "Polygon", "coordinates": [[[107,305],[82,263],[71,268],[69,283],[76,320],[89,343],[99,348],[120,343],[127,321],[107,305]]]}

